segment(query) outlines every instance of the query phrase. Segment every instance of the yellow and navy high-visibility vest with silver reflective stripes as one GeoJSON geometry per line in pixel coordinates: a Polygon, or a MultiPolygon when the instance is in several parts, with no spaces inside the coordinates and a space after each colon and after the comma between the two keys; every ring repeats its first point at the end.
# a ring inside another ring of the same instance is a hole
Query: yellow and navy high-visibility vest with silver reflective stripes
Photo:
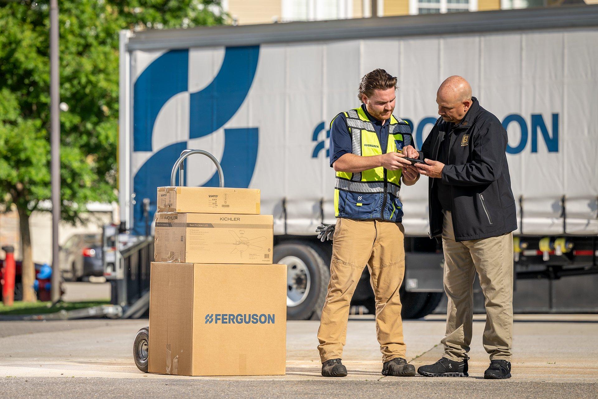
{"type": "MultiPolygon", "coordinates": [[[[380,146],[380,140],[378,139],[373,123],[368,119],[361,107],[344,112],[344,115],[346,116],[347,128],[351,134],[352,154],[359,156],[382,155],[388,152],[400,152],[404,146],[403,133],[408,133],[409,130],[408,128],[407,130],[401,128],[400,125],[407,123],[396,118],[394,115],[390,116],[388,145],[384,152],[380,146]]],[[[410,141],[410,135],[407,137],[408,141],[410,141]]],[[[344,191],[343,197],[347,197],[347,193],[352,193],[351,197],[355,198],[355,200],[351,201],[351,207],[343,207],[344,210],[341,217],[386,220],[395,220],[398,217],[399,212],[396,211],[395,199],[389,197],[389,195],[392,194],[396,198],[396,201],[398,201],[399,190],[401,189],[400,169],[386,170],[383,167],[377,167],[359,173],[337,172],[334,186],[335,216],[339,216],[339,192],[344,191]],[[359,195],[361,193],[364,195],[359,195]],[[380,202],[382,202],[382,206],[376,205],[380,204],[380,202]],[[382,208],[382,210],[369,213],[361,212],[362,209],[367,208],[365,205],[373,207],[372,204],[382,208]],[[385,208],[387,207],[388,214],[385,214],[385,208]]],[[[346,198],[344,199],[346,200],[346,198]]],[[[400,214],[402,215],[402,212],[400,214]]]]}

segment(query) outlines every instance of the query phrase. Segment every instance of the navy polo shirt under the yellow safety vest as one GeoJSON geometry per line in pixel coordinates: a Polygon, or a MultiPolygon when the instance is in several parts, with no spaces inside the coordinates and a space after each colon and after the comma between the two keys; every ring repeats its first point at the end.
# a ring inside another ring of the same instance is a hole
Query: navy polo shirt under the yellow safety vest
{"type": "MultiPolygon", "coordinates": [[[[376,135],[378,136],[378,140],[380,141],[380,148],[386,150],[386,145],[388,143],[388,130],[390,127],[390,119],[385,121],[383,125],[383,121],[379,121],[376,118],[373,118],[368,110],[365,108],[365,104],[361,105],[361,109],[364,110],[365,115],[368,116],[370,121],[373,121],[374,130],[376,130],[376,135]]],[[[407,145],[407,143],[405,143],[407,145]]],[[[334,164],[338,158],[343,156],[344,154],[351,154],[353,150],[353,145],[351,141],[351,134],[349,133],[349,129],[347,129],[347,117],[344,116],[344,113],[340,113],[334,121],[332,121],[332,126],[330,127],[330,167],[334,164]]]]}

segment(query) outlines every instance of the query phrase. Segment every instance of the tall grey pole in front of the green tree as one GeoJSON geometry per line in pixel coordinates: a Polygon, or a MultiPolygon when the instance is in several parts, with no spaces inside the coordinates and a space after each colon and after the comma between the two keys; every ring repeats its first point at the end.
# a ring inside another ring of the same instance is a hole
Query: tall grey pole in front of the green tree
{"type": "Polygon", "coordinates": [[[52,302],[60,300],[58,223],[60,222],[60,74],[58,48],[58,0],[50,0],[50,146],[52,185],[52,302]]]}

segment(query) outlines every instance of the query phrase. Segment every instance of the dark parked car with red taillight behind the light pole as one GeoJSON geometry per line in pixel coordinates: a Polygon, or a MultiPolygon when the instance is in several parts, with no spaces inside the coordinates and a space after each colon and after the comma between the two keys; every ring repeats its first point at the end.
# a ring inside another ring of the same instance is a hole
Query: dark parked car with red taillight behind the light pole
{"type": "Polygon", "coordinates": [[[103,276],[102,235],[74,234],[60,247],[60,270],[66,281],[103,276]]]}

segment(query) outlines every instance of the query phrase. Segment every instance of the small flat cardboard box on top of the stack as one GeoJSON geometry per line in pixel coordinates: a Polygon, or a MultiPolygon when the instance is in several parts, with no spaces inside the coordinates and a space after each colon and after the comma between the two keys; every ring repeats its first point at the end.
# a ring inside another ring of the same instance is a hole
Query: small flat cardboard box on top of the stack
{"type": "Polygon", "coordinates": [[[260,190],[158,187],[158,212],[260,214],[260,190]]]}

